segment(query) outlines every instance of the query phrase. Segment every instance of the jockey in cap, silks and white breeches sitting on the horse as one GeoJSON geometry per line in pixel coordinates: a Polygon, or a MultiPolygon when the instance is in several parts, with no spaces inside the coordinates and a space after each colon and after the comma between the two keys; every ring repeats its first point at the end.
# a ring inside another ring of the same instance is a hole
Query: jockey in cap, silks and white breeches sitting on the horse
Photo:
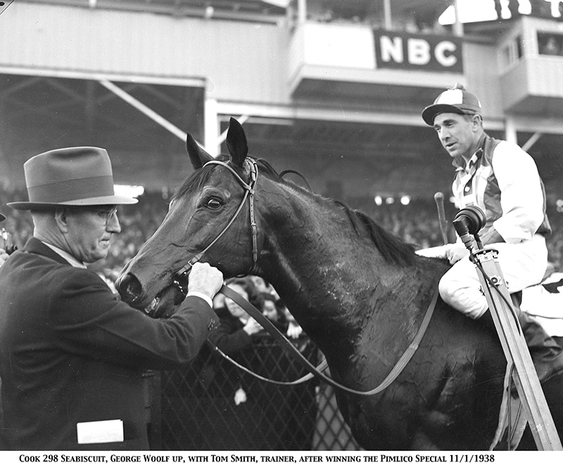
{"type": "MultiPolygon", "coordinates": [[[[486,216],[479,233],[484,246],[498,250],[498,263],[510,292],[540,283],[548,267],[545,237],[551,228],[545,190],[536,163],[517,144],[493,139],[483,130],[481,102],[463,86],[442,92],[422,111],[455,168],[457,208],[477,206],[486,216]]],[[[458,311],[494,328],[479,275],[459,239],[419,251],[452,264],[440,280],[442,299],[458,311]]],[[[563,349],[524,312],[519,321],[540,381],[563,369],[563,349]]],[[[496,333],[496,330],[495,330],[496,333]]]]}

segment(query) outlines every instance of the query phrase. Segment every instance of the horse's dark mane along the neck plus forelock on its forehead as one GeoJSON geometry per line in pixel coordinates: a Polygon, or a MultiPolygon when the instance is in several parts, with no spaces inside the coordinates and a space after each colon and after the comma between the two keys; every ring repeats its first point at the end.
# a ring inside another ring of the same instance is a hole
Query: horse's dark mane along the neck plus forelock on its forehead
{"type": "MultiPolygon", "coordinates": [[[[230,157],[228,155],[217,156],[217,160],[229,161],[230,157]]],[[[357,235],[360,235],[361,231],[367,232],[369,238],[372,240],[374,245],[377,247],[381,255],[389,263],[396,263],[398,265],[407,266],[411,265],[415,261],[414,248],[411,244],[407,244],[403,240],[400,240],[395,235],[388,233],[384,228],[381,228],[375,221],[367,216],[366,213],[362,211],[350,209],[349,206],[340,202],[339,200],[329,199],[327,197],[322,197],[319,194],[315,194],[311,190],[305,190],[300,185],[294,182],[285,180],[282,175],[280,175],[274,167],[265,161],[264,159],[255,159],[258,168],[262,174],[267,175],[272,180],[279,182],[284,185],[291,185],[292,188],[299,190],[300,192],[307,194],[312,199],[316,199],[317,202],[331,202],[332,204],[343,209],[343,211],[348,216],[350,223],[352,223],[354,231],[357,235]]],[[[182,197],[185,194],[193,194],[197,192],[201,186],[208,180],[211,171],[214,166],[203,166],[193,173],[190,173],[188,177],[182,182],[182,185],[178,188],[177,193],[174,195],[173,199],[182,197]]],[[[307,180],[296,171],[291,171],[291,173],[296,173],[299,175],[306,184],[307,180]]]]}

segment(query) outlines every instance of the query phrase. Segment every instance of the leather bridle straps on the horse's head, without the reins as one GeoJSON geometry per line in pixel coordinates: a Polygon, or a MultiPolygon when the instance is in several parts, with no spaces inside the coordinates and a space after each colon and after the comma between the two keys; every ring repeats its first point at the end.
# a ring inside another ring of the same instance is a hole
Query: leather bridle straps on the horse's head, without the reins
{"type": "Polygon", "coordinates": [[[189,273],[191,267],[194,266],[194,263],[200,261],[203,254],[205,254],[205,252],[207,252],[210,249],[210,247],[212,247],[213,244],[215,244],[215,242],[217,242],[217,240],[219,240],[220,237],[227,232],[227,230],[231,227],[232,223],[234,223],[234,221],[236,220],[236,217],[239,216],[239,213],[241,213],[247,198],[248,198],[248,209],[250,210],[250,220],[251,220],[252,259],[253,259],[253,265],[248,271],[248,274],[252,273],[252,271],[256,267],[256,263],[258,262],[258,228],[256,227],[256,221],[254,216],[254,190],[256,187],[256,182],[258,181],[258,165],[251,158],[246,158],[244,160],[244,166],[248,166],[248,171],[250,171],[250,178],[248,182],[245,182],[243,178],[239,176],[239,173],[236,173],[236,171],[234,171],[234,169],[231,166],[229,166],[229,164],[224,163],[224,161],[218,161],[218,160],[208,161],[207,163],[205,163],[205,165],[203,165],[203,167],[208,165],[220,165],[223,166],[224,168],[227,168],[227,170],[229,170],[234,175],[234,178],[236,178],[236,180],[239,181],[239,184],[243,187],[244,196],[241,200],[241,203],[239,204],[239,208],[236,209],[232,218],[229,220],[227,225],[225,225],[222,231],[217,235],[217,237],[215,237],[215,239],[211,241],[210,244],[207,247],[205,247],[205,249],[203,249],[201,252],[193,256],[188,261],[186,266],[184,266],[175,274],[175,278],[172,282],[172,285],[177,287],[184,295],[186,294],[187,289],[185,288],[185,285],[182,284],[185,283],[185,279],[183,278],[185,278],[187,273],[189,273]]]}

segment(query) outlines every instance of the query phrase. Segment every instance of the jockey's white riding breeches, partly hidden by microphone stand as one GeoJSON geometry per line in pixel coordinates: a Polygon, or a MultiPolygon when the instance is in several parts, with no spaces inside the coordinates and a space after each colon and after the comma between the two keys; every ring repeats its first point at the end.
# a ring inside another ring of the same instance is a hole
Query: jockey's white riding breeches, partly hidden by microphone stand
{"type": "MultiPolygon", "coordinates": [[[[510,293],[540,283],[548,267],[548,249],[542,235],[536,234],[531,240],[517,244],[500,242],[484,248],[498,250],[498,264],[510,293]]],[[[488,309],[469,255],[454,263],[442,276],[438,289],[444,302],[470,318],[480,318],[488,309]]]]}

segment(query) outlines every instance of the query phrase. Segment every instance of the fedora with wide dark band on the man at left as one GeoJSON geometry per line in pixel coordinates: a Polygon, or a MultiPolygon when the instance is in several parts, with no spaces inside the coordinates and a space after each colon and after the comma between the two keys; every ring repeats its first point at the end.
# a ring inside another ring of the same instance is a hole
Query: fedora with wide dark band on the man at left
{"type": "Polygon", "coordinates": [[[69,147],[32,156],[23,164],[29,202],[11,202],[16,210],[55,206],[136,204],[115,195],[110,157],[98,147],[69,147]]]}

